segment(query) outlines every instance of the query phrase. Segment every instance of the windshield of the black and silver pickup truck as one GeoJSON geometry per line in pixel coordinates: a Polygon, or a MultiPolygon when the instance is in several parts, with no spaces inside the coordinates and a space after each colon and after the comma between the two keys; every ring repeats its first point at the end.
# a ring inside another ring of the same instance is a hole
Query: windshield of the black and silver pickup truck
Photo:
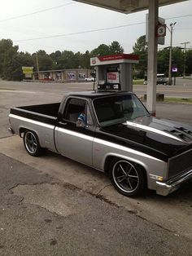
{"type": "Polygon", "coordinates": [[[150,116],[135,95],[94,99],[94,109],[101,126],[111,126],[137,117],[150,116]]]}

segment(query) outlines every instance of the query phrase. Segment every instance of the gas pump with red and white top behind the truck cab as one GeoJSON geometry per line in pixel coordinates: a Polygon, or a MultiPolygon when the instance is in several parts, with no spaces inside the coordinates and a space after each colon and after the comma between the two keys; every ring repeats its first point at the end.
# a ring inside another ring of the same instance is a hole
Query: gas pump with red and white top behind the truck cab
{"type": "Polygon", "coordinates": [[[132,54],[105,55],[90,58],[96,72],[98,90],[133,91],[133,64],[138,56],[132,54]]]}

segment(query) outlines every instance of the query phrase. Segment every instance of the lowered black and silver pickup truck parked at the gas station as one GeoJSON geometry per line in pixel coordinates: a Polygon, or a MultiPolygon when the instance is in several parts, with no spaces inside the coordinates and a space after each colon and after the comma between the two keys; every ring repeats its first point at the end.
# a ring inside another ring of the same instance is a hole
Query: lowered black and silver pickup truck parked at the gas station
{"type": "Polygon", "coordinates": [[[124,196],[146,188],[167,196],[192,178],[192,127],[151,117],[133,93],[70,93],[61,103],[11,108],[9,119],[28,154],[49,149],[102,170],[124,196]]]}

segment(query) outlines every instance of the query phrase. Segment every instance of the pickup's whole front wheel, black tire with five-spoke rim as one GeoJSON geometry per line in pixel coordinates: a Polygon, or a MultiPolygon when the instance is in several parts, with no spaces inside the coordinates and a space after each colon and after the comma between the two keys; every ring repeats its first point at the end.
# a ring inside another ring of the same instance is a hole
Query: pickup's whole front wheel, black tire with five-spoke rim
{"type": "Polygon", "coordinates": [[[111,161],[109,176],[113,186],[124,196],[141,196],[146,191],[144,171],[127,160],[114,159],[111,161]]]}

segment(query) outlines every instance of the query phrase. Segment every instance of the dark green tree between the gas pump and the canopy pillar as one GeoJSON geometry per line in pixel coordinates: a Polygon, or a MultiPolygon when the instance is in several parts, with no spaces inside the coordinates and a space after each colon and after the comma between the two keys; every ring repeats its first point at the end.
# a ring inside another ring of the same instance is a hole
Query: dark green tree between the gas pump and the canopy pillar
{"type": "Polygon", "coordinates": [[[137,42],[133,46],[133,53],[139,56],[139,64],[137,64],[137,71],[139,71],[140,75],[144,77],[144,74],[147,71],[148,55],[148,46],[145,35],[137,39],[137,42]]]}

